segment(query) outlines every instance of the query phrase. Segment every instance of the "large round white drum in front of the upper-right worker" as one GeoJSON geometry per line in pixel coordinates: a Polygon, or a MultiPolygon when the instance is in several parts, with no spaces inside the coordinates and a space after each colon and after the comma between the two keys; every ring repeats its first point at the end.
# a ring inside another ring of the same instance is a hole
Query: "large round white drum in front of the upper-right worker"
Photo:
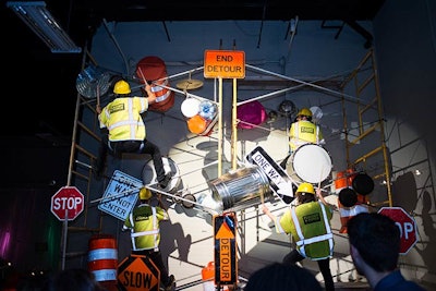
{"type": "Polygon", "coordinates": [[[306,144],[292,153],[286,170],[293,181],[320,183],[331,171],[331,158],[322,146],[306,144]]]}

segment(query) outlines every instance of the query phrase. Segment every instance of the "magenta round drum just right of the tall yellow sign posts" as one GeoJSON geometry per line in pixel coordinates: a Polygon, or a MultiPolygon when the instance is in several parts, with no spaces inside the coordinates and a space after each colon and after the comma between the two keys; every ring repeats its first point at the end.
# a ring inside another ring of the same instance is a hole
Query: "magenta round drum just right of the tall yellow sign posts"
{"type": "Polygon", "coordinates": [[[259,101],[255,100],[238,106],[237,117],[241,121],[238,123],[238,128],[250,130],[255,128],[255,125],[264,123],[267,113],[264,106],[259,101]]]}

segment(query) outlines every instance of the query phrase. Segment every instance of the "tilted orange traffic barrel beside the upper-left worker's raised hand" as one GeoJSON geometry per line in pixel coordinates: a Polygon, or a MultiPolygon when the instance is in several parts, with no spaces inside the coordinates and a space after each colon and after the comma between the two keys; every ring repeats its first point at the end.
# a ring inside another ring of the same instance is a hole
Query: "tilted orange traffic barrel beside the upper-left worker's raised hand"
{"type": "Polygon", "coordinates": [[[164,60],[154,56],[143,58],[136,64],[136,76],[143,84],[147,82],[156,95],[156,102],[149,106],[149,110],[166,112],[171,109],[174,105],[174,92],[167,88],[170,83],[164,60]]]}

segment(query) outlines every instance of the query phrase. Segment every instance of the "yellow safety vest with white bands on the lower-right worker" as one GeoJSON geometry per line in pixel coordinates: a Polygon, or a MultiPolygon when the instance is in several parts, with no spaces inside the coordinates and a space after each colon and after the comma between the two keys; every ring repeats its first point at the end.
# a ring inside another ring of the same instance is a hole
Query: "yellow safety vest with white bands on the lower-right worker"
{"type": "Polygon", "coordinates": [[[317,202],[319,207],[319,209],[317,209],[317,214],[322,215],[323,220],[315,222],[316,225],[304,223],[304,220],[306,219],[305,215],[316,215],[316,213],[313,213],[313,205],[311,204],[313,203],[302,204],[296,208],[292,208],[291,215],[295,227],[295,232],[299,238],[295,243],[300,254],[304,257],[316,260],[327,258],[332,255],[334,235],[331,233],[329,218],[326,214],[326,207],[320,202],[317,202]],[[310,209],[312,213],[307,213],[307,209],[310,209]],[[299,211],[299,214],[296,214],[296,211],[299,211]],[[301,222],[303,222],[303,228],[301,227],[301,222]],[[313,233],[317,232],[318,234],[311,238],[305,238],[304,234],[307,232],[307,230],[314,228],[317,229],[313,233]]]}

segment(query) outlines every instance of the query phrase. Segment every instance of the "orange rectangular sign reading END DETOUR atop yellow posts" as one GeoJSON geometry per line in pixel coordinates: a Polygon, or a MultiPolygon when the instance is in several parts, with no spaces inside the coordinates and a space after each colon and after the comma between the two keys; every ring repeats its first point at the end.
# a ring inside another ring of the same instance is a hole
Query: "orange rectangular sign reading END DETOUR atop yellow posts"
{"type": "Polygon", "coordinates": [[[245,53],[243,51],[206,50],[204,63],[204,77],[245,77],[245,53]]]}

